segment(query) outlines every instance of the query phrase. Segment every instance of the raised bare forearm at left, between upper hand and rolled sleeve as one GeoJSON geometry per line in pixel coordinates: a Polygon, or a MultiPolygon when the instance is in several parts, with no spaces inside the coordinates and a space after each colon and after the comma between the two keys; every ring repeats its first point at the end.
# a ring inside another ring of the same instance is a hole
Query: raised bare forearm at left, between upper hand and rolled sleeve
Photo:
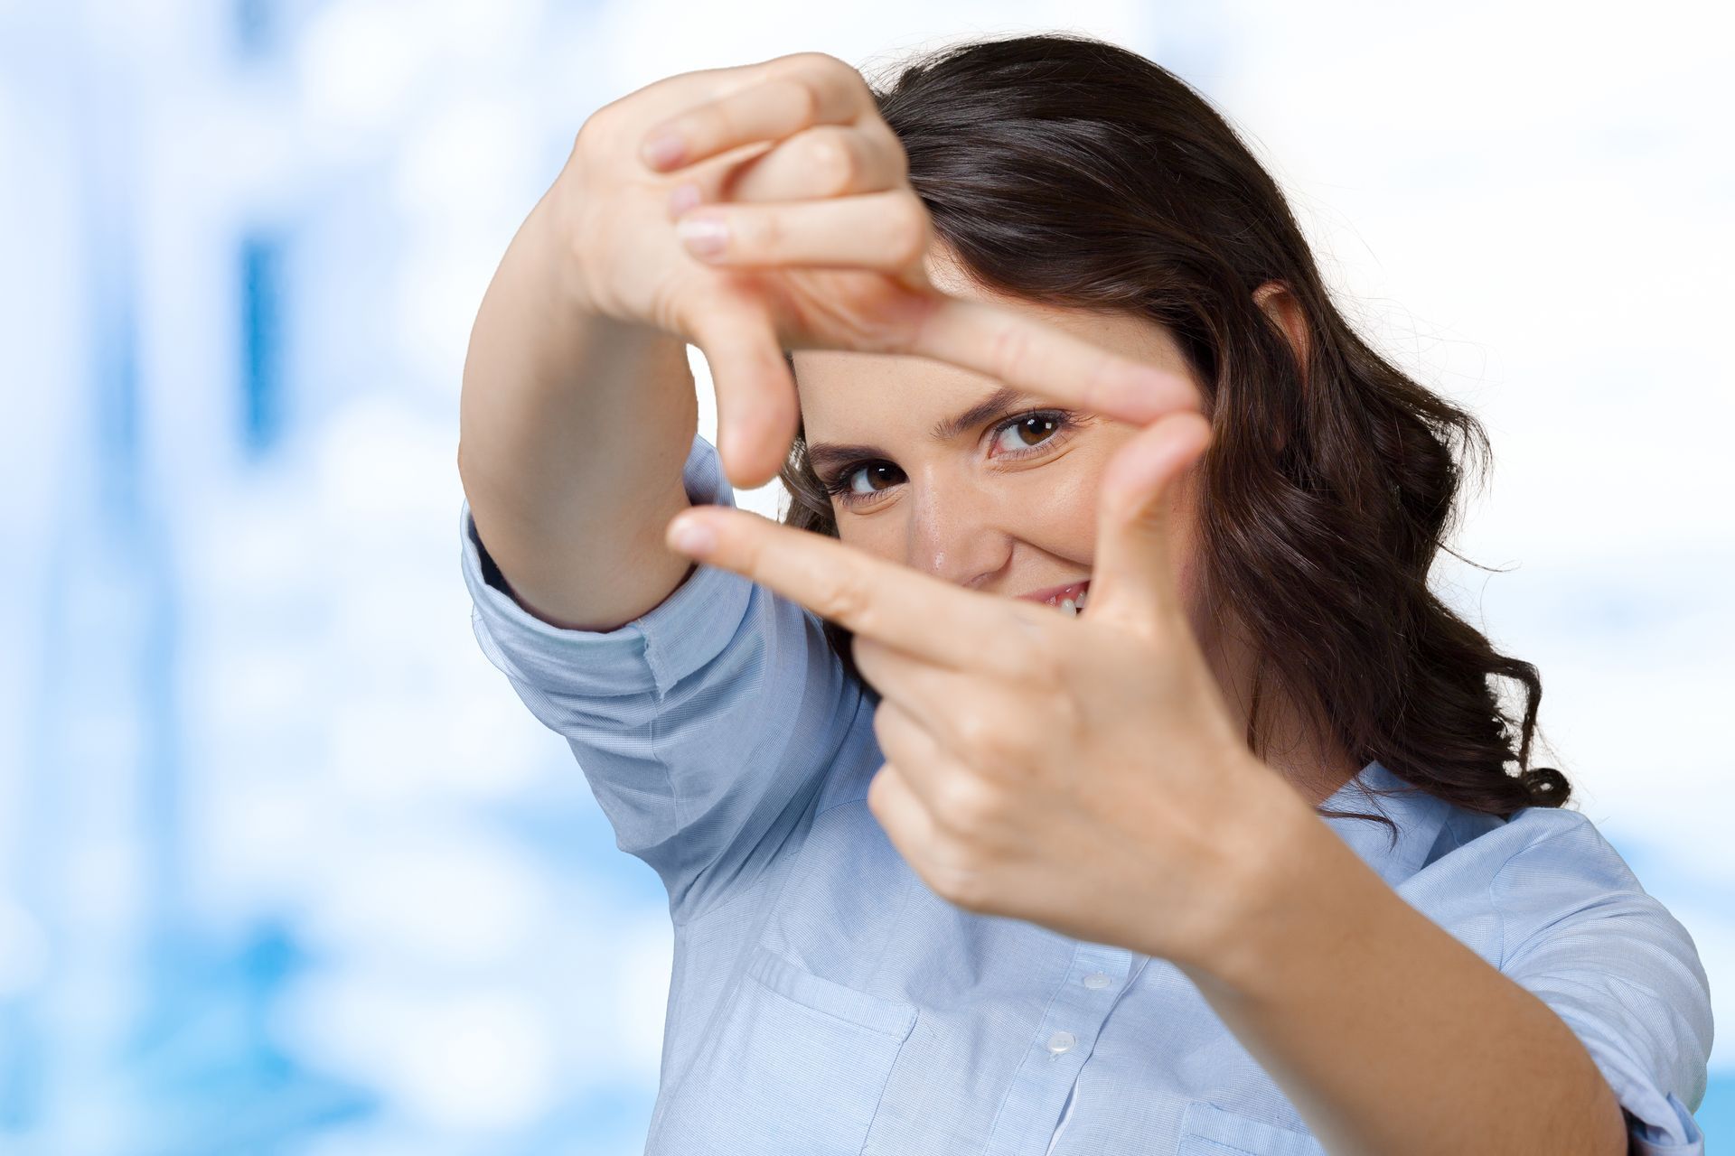
{"type": "Polygon", "coordinates": [[[560,626],[609,629],[689,568],[661,539],[687,506],[697,402],[682,338],[576,298],[553,206],[550,192],[524,220],[477,310],[458,471],[519,600],[560,626]]]}

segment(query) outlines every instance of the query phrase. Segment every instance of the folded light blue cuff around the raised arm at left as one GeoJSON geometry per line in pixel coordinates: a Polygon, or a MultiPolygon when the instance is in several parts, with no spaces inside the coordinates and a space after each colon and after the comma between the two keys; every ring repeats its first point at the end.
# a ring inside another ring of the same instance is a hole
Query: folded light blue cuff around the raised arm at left
{"type": "MultiPolygon", "coordinates": [[[[694,504],[734,506],[717,449],[694,435],[682,468],[694,504]]],[[[612,631],[553,626],[520,607],[496,586],[484,567],[482,539],[465,499],[458,511],[463,581],[470,615],[488,659],[547,693],[618,695],[654,690],[658,695],[715,659],[734,638],[748,612],[753,582],[734,570],[699,565],[661,603],[612,631]]]]}

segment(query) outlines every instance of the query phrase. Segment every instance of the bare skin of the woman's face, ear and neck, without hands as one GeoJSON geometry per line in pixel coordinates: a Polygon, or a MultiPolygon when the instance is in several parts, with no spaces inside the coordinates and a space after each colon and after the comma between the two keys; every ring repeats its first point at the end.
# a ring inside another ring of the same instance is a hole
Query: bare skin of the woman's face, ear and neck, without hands
{"type": "MultiPolygon", "coordinates": [[[[1173,336],[1149,319],[1055,308],[989,293],[959,272],[940,243],[930,248],[926,272],[942,293],[1025,314],[1182,374],[1197,388],[1173,336]]],[[[1280,286],[1267,284],[1256,300],[1301,348],[1306,334],[1293,298],[1280,286]]],[[[796,350],[793,360],[809,444],[876,445],[904,475],[900,484],[864,503],[833,499],[841,541],[991,594],[1017,596],[1090,577],[1102,473],[1140,426],[1079,411],[1077,428],[1058,432],[1041,445],[1020,442],[1017,432],[996,440],[992,426],[999,419],[937,442],[930,437],[933,425],[991,395],[999,381],[946,362],[894,354],[796,350]]],[[[1008,416],[1031,409],[1053,411],[1057,406],[1029,397],[1008,416]]],[[[1234,619],[1220,622],[1201,610],[1190,475],[1169,497],[1169,555],[1194,636],[1234,723],[1244,731],[1254,653],[1234,619]]],[[[868,480],[859,477],[857,484],[868,480]]],[[[1339,747],[1319,742],[1287,697],[1268,693],[1261,718],[1268,737],[1265,763],[1310,804],[1327,799],[1360,770],[1339,747]]]]}

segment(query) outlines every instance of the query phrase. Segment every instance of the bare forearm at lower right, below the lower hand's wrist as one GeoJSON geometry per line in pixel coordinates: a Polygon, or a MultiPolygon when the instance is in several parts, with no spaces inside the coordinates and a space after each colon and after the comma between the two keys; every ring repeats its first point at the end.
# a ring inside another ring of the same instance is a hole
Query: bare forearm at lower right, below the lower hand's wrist
{"type": "Polygon", "coordinates": [[[1579,1038],[1306,809],[1211,965],[1183,965],[1338,1156],[1627,1151],[1579,1038]]]}

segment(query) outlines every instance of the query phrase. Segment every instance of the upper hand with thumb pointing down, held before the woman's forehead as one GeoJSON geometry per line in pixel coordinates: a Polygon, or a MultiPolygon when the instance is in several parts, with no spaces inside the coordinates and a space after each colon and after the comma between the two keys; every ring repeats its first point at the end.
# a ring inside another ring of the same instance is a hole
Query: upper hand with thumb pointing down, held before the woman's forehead
{"type": "Polygon", "coordinates": [[[1136,423],[1197,407],[1178,374],[935,289],[907,173],[868,83],[833,55],[668,76],[593,113],[555,182],[574,300],[704,352],[741,487],[776,477],[795,438],[784,348],[932,357],[1136,423]],[[659,137],[678,156],[658,159],[659,137]],[[677,234],[701,218],[727,222],[720,251],[677,234]]]}

